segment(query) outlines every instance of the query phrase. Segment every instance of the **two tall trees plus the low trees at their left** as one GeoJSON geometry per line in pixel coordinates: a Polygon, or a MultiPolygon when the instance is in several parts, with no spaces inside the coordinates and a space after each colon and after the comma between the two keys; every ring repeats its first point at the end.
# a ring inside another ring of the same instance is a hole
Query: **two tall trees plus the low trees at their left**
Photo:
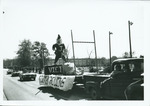
{"type": "Polygon", "coordinates": [[[43,42],[32,43],[25,39],[18,46],[17,57],[3,60],[4,67],[39,67],[42,69],[49,60],[49,51],[43,42]]]}

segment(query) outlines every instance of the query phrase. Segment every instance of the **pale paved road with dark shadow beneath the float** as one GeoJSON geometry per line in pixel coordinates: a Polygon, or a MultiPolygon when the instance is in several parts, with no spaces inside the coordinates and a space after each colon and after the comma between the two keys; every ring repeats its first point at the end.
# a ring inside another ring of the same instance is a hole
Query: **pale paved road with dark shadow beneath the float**
{"type": "Polygon", "coordinates": [[[7,100],[89,100],[83,86],[75,86],[64,92],[50,87],[40,87],[38,76],[36,81],[20,81],[19,77],[3,75],[3,91],[7,100]]]}

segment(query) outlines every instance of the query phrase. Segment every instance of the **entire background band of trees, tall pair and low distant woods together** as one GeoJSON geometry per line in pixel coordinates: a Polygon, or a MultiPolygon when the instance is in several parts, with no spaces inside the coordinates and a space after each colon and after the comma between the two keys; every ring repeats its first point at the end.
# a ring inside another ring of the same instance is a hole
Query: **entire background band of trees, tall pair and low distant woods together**
{"type": "MultiPolygon", "coordinates": [[[[5,59],[3,60],[3,67],[33,67],[43,69],[44,65],[52,65],[54,63],[54,59],[49,58],[49,51],[46,47],[46,44],[43,42],[35,41],[31,42],[30,40],[23,40],[19,45],[19,49],[17,51],[17,57],[14,59],[5,59]]],[[[68,53],[69,54],[69,53],[68,53]]],[[[133,55],[135,53],[133,52],[133,55]]],[[[125,52],[122,57],[112,56],[111,61],[117,58],[128,58],[129,53],[125,52]]],[[[143,57],[143,56],[141,56],[143,57]]],[[[69,62],[74,62],[73,58],[68,58],[69,62]]],[[[58,64],[62,64],[63,61],[60,59],[58,64]]],[[[91,58],[78,58],[75,59],[75,64],[78,67],[84,66],[96,66],[95,59],[91,58]]],[[[105,57],[97,59],[97,65],[107,67],[110,65],[109,59],[105,57]]]]}

